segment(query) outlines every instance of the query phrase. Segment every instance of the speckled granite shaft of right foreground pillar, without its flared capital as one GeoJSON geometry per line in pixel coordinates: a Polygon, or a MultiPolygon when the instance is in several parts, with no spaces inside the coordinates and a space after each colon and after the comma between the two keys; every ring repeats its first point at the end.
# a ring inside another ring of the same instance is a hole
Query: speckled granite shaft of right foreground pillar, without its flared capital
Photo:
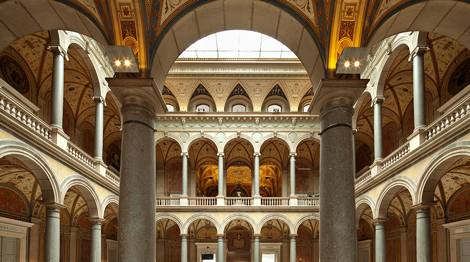
{"type": "Polygon", "coordinates": [[[349,105],[335,105],[319,115],[320,260],[356,262],[357,232],[354,192],[352,116],[349,105]]]}

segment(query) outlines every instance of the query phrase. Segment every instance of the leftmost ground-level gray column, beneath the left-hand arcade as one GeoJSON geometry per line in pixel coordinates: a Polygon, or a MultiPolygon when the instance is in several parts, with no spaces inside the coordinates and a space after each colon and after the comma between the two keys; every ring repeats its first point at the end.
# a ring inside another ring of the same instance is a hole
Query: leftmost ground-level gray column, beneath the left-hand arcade
{"type": "Polygon", "coordinates": [[[44,261],[59,262],[60,258],[60,210],[46,207],[46,232],[44,236],[44,261]]]}

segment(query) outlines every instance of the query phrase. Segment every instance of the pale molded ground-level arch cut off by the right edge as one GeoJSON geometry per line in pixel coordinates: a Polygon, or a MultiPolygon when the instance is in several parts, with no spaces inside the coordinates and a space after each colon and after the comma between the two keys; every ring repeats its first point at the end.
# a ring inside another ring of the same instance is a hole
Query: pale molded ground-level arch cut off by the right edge
{"type": "Polygon", "coordinates": [[[470,141],[461,141],[442,149],[429,161],[418,180],[418,203],[432,202],[437,183],[444,172],[458,159],[470,155],[470,141]]]}

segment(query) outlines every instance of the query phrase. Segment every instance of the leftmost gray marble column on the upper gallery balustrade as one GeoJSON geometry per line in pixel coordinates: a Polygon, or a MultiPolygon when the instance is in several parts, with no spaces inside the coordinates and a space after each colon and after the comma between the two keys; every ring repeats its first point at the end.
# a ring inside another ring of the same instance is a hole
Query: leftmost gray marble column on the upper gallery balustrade
{"type": "Polygon", "coordinates": [[[64,100],[64,54],[52,51],[51,126],[62,129],[64,100]]]}

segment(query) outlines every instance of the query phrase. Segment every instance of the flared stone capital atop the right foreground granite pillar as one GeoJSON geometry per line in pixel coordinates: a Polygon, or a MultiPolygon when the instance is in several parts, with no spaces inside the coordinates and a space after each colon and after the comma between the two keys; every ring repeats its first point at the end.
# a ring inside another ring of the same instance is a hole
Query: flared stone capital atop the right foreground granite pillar
{"type": "Polygon", "coordinates": [[[311,115],[319,115],[323,110],[336,105],[354,106],[366,90],[369,79],[323,78],[313,95],[311,115]]]}

